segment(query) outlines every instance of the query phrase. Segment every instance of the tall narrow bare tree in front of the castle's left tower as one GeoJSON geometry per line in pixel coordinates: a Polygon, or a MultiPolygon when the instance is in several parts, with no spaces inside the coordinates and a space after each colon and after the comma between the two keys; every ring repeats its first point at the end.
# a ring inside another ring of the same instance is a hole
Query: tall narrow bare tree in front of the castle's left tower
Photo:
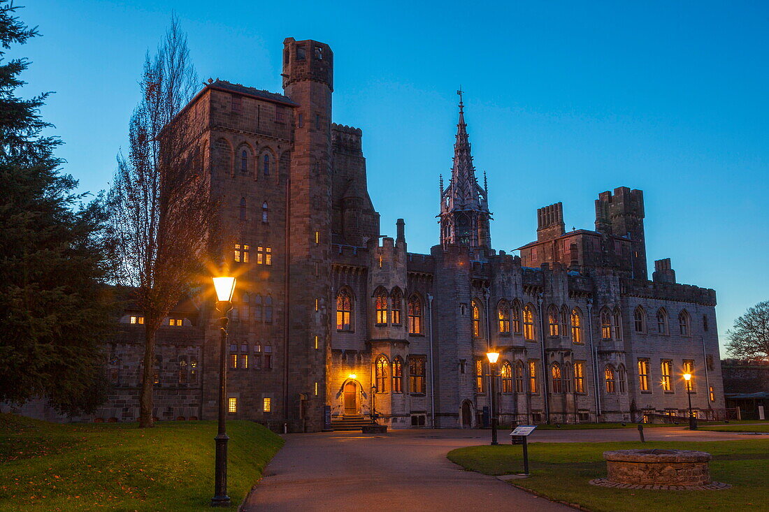
{"type": "Polygon", "coordinates": [[[211,217],[198,125],[194,112],[184,110],[197,83],[187,37],[173,16],[154,58],[145,59],[128,157],[118,155],[109,192],[118,283],[131,291],[145,314],[140,427],[153,425],[158,327],[195,286],[211,217]]]}

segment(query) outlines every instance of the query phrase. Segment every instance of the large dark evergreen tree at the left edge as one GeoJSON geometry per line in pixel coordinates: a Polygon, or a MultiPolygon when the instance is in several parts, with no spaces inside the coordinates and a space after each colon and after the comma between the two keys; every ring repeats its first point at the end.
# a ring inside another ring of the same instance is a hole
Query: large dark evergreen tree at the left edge
{"type": "Polygon", "coordinates": [[[105,211],[99,198],[83,204],[54,155],[61,141],[42,135],[49,93],[16,95],[29,63],[5,62],[5,50],[38,35],[17,9],[0,0],[0,402],[43,397],[79,414],[105,399],[105,211]]]}

